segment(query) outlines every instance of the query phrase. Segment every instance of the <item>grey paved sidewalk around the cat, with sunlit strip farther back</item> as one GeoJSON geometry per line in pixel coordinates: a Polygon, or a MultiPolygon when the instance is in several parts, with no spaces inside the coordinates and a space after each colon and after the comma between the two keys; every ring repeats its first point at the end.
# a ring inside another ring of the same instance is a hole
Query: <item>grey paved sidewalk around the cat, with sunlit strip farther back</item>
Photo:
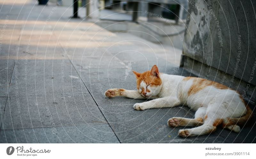
{"type": "Polygon", "coordinates": [[[144,100],[104,97],[109,88],[135,90],[132,70],[154,64],[191,76],[164,58],[179,59],[180,50],[69,19],[72,8],[22,2],[0,0],[0,143],[255,142],[253,123],[240,134],[220,128],[184,139],[182,127],[169,128],[167,120],[193,118],[187,107],[136,111],[133,104],[144,100]]]}

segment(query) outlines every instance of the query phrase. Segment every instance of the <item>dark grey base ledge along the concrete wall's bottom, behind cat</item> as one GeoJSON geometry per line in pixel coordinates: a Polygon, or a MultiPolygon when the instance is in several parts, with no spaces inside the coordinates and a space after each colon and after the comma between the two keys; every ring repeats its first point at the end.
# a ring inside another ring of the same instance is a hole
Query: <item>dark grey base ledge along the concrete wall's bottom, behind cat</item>
{"type": "Polygon", "coordinates": [[[244,99],[247,102],[249,101],[250,103],[255,105],[256,93],[254,93],[255,86],[253,84],[247,83],[236,77],[234,78],[234,80],[231,80],[231,75],[226,74],[225,72],[215,69],[213,67],[210,67],[206,64],[203,64],[202,62],[196,61],[184,54],[181,55],[180,67],[184,67],[184,69],[191,72],[191,74],[194,74],[201,78],[209,76],[209,80],[219,83],[224,80],[223,85],[237,90],[242,96],[244,96],[244,99]]]}

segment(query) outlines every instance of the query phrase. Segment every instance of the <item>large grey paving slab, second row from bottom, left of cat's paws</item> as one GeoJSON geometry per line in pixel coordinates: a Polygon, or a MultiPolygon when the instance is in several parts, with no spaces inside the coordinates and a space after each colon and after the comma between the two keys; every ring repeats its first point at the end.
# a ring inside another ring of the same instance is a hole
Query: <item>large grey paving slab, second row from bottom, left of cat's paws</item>
{"type": "Polygon", "coordinates": [[[107,123],[89,93],[12,97],[7,101],[2,130],[107,123]]]}

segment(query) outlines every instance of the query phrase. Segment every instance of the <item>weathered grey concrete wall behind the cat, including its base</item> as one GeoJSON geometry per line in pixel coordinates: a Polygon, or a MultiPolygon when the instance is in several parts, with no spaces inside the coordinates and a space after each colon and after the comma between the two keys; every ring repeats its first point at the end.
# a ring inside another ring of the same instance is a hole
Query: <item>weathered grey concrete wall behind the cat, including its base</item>
{"type": "Polygon", "coordinates": [[[181,65],[218,82],[226,76],[226,85],[255,101],[256,1],[188,2],[181,65]]]}

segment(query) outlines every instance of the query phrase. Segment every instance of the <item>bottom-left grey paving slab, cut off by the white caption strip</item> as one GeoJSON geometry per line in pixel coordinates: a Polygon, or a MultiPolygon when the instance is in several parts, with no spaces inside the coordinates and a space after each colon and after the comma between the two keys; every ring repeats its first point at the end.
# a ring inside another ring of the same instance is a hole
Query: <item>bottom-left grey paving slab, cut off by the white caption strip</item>
{"type": "Polygon", "coordinates": [[[106,123],[4,130],[0,143],[119,143],[106,123]]]}

